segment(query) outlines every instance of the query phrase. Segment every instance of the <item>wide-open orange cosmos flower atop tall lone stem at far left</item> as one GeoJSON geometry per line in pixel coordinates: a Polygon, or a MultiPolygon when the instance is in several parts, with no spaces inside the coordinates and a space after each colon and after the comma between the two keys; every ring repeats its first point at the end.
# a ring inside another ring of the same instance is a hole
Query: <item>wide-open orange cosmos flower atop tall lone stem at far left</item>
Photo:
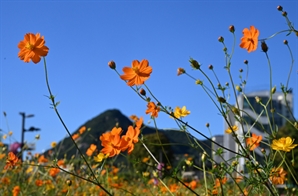
{"type": "Polygon", "coordinates": [[[27,33],[24,36],[24,40],[18,44],[18,48],[20,49],[19,58],[26,63],[29,63],[30,60],[35,64],[38,63],[40,57],[47,56],[49,52],[49,48],[44,44],[44,37],[41,37],[39,33],[36,33],[36,35],[27,33]]]}

